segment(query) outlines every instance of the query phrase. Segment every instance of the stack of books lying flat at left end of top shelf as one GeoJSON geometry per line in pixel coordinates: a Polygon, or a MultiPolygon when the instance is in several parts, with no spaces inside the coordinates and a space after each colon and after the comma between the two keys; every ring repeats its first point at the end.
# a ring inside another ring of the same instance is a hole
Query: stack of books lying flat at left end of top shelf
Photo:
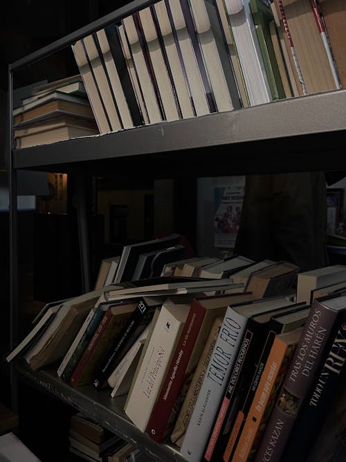
{"type": "Polygon", "coordinates": [[[79,74],[35,87],[13,117],[17,148],[99,133],[79,74]]]}

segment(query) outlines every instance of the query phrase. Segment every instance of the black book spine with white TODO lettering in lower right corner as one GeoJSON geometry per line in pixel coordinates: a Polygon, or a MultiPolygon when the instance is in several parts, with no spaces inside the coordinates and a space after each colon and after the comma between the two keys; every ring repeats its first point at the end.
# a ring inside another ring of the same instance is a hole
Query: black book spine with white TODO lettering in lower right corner
{"type": "Polygon", "coordinates": [[[316,441],[323,420],[329,411],[336,392],[345,384],[346,359],[346,312],[337,321],[336,334],[325,362],[304,400],[302,410],[294,426],[282,462],[307,461],[309,451],[316,441]],[[294,459],[290,459],[293,456],[294,459]]]}

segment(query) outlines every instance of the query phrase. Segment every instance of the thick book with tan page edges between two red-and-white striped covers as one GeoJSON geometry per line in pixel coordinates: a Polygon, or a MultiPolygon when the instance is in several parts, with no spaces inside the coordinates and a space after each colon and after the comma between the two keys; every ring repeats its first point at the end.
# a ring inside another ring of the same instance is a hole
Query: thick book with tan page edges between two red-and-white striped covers
{"type": "MultiPolygon", "coordinates": [[[[309,0],[274,0],[285,17],[306,94],[337,89],[309,0]]],[[[287,42],[286,42],[287,44],[287,42]]],[[[291,47],[287,48],[291,53],[291,47]]]]}

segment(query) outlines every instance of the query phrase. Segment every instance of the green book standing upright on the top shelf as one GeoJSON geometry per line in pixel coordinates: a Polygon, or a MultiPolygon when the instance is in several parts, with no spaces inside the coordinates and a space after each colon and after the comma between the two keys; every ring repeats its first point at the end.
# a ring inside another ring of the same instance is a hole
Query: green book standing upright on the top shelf
{"type": "Polygon", "coordinates": [[[268,84],[271,89],[271,96],[274,101],[284,99],[286,98],[286,94],[284,86],[282,85],[280,70],[279,66],[277,66],[273,42],[271,40],[270,23],[273,21],[273,13],[271,8],[261,0],[250,0],[249,6],[251,14],[253,15],[258,42],[260,43],[268,84]]]}

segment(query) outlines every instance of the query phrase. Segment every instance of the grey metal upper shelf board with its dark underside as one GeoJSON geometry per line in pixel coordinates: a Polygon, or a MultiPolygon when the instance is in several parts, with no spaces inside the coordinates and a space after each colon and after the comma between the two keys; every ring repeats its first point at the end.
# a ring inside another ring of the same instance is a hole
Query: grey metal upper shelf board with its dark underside
{"type": "Polygon", "coordinates": [[[337,90],[15,150],[13,167],[120,177],[346,170],[345,148],[337,90]]]}

